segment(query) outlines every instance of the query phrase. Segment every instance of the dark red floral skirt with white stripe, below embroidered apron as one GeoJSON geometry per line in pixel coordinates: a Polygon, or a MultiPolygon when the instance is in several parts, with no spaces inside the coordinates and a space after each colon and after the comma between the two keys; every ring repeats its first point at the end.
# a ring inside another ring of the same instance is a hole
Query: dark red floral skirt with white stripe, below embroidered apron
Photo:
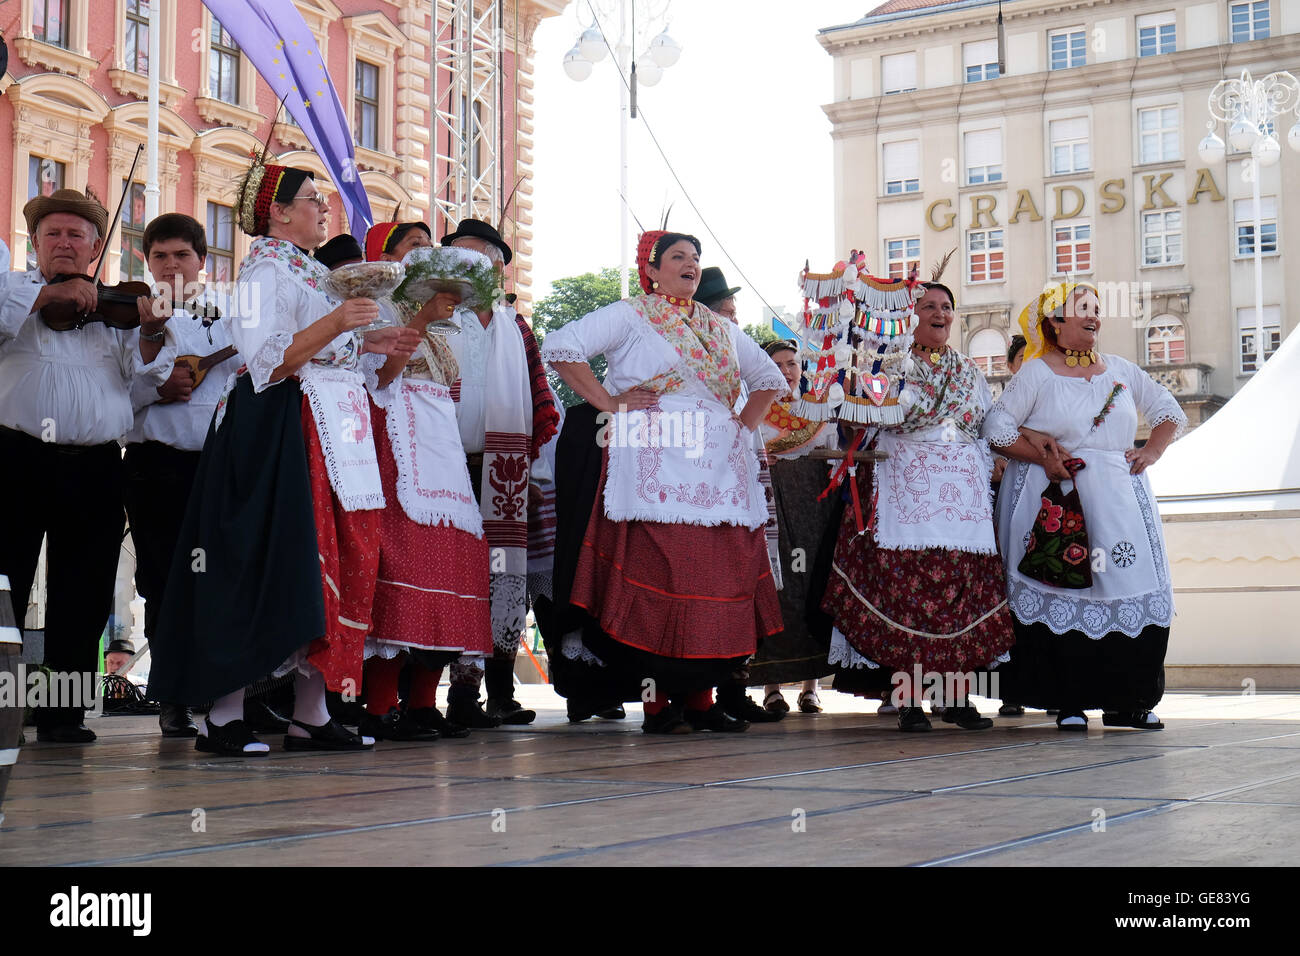
{"type": "MultiPolygon", "coordinates": [[[[871,468],[858,493],[871,501],[871,468]]],[[[849,644],[881,667],[967,672],[988,667],[1015,644],[1006,578],[996,554],[879,548],[844,510],[822,609],[849,644]]]]}

